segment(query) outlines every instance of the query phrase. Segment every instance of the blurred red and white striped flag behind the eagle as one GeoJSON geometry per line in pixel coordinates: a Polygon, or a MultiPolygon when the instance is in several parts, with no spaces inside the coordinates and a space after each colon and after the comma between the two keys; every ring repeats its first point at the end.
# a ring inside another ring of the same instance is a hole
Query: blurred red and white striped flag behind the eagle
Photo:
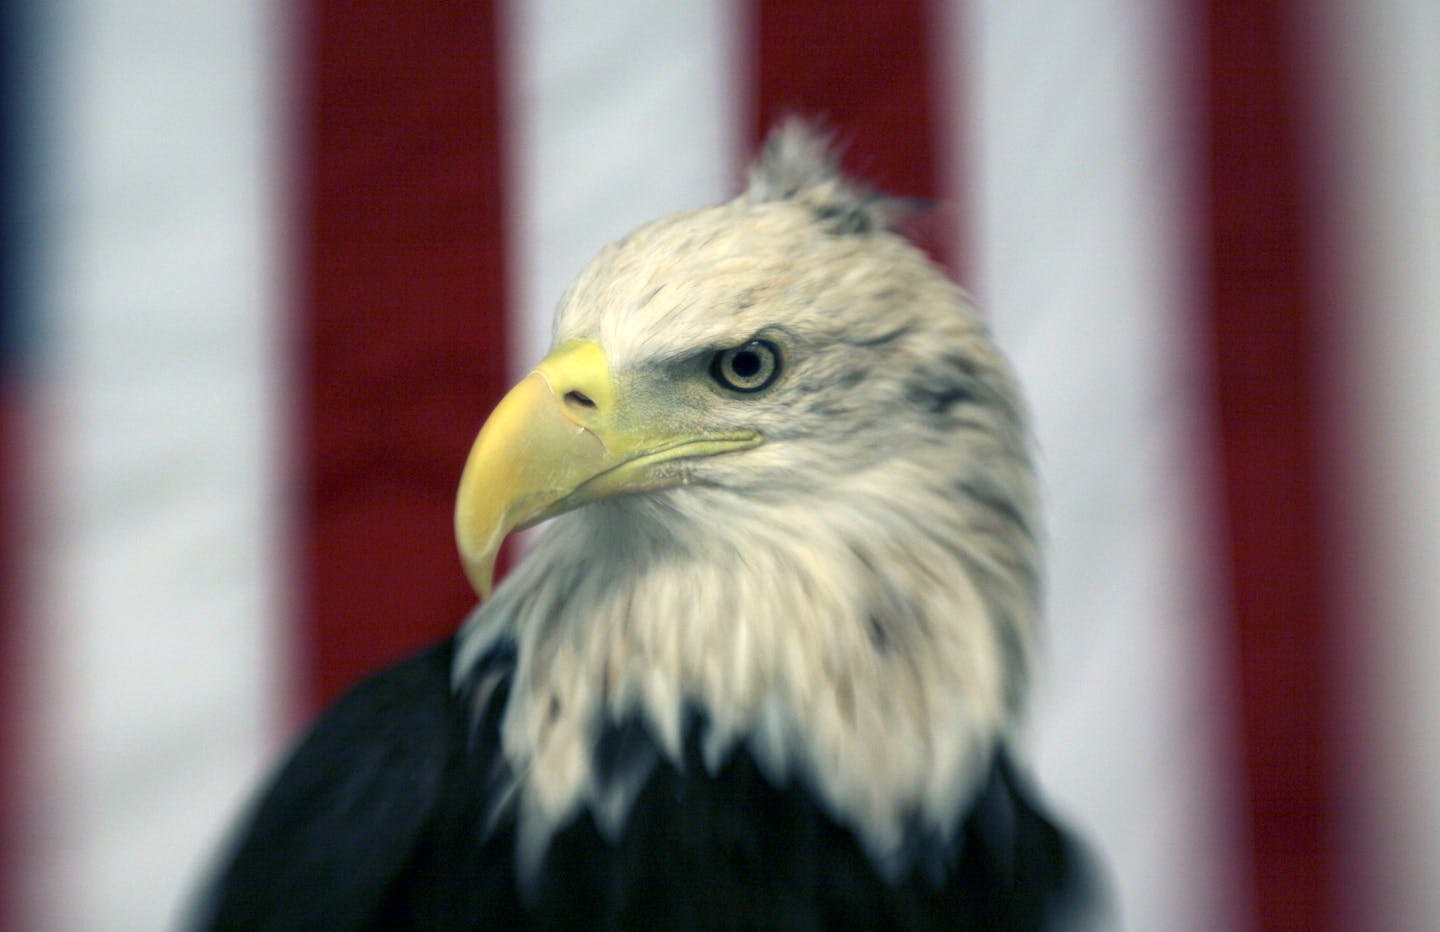
{"type": "Polygon", "coordinates": [[[1440,7],[58,0],[0,27],[0,928],[154,929],[471,605],[569,277],[822,118],[1028,387],[1025,748],[1132,929],[1440,926],[1440,7]]]}

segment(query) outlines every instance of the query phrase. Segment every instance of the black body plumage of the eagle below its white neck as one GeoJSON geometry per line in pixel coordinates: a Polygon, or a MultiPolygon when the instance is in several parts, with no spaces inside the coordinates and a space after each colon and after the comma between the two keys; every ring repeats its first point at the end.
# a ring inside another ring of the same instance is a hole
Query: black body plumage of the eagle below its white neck
{"type": "Polygon", "coordinates": [[[743,750],[710,775],[698,714],[681,768],[642,727],[612,729],[611,766],[655,762],[618,843],[579,815],[521,895],[516,820],[494,807],[513,655],[474,671],[492,690],[478,720],[451,658],[446,641],[320,720],[249,814],[197,928],[1051,929],[1080,916],[1086,859],[1004,752],[953,843],[917,843],[890,884],[804,785],[772,785],[743,750]]]}

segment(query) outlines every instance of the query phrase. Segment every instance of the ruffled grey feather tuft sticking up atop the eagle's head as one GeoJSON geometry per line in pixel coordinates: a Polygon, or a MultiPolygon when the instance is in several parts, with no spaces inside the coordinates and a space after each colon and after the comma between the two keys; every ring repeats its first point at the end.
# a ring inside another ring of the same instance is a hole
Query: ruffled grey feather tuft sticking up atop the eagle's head
{"type": "Polygon", "coordinates": [[[759,160],[750,167],[746,199],[756,205],[799,202],[837,235],[894,229],[913,213],[910,202],[847,179],[840,169],[834,135],[799,117],[789,117],[770,130],[759,160]]]}

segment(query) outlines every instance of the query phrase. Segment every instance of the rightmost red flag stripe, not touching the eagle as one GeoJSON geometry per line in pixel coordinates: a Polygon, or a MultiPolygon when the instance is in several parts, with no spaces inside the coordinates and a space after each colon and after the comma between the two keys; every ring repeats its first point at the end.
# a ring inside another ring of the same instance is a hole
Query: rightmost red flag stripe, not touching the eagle
{"type": "Polygon", "coordinates": [[[1299,4],[1195,0],[1202,313],[1223,468],[1251,896],[1261,929],[1341,925],[1335,412],[1320,339],[1323,153],[1299,4]]]}

